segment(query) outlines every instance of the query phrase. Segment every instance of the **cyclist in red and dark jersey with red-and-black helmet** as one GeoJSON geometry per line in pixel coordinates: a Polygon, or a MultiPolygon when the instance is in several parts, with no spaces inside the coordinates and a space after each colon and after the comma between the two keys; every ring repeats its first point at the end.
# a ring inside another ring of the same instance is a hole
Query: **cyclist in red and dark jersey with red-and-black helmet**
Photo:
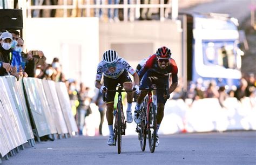
{"type": "MultiPolygon", "coordinates": [[[[160,123],[164,118],[164,106],[166,100],[169,98],[169,94],[172,93],[178,85],[178,67],[174,59],[171,58],[171,50],[165,46],[160,47],[155,54],[153,54],[147,61],[144,67],[139,71],[138,75],[140,80],[141,90],[137,99],[137,104],[134,111],[134,122],[137,124],[140,122],[140,110],[142,108],[142,102],[147,94],[147,88],[152,84],[156,84],[157,87],[157,130],[160,127],[160,123]],[[169,73],[171,73],[172,84],[169,87],[169,73]],[[168,93],[165,92],[163,87],[168,85],[168,93]]],[[[158,134],[156,136],[156,147],[159,145],[158,134]]]]}

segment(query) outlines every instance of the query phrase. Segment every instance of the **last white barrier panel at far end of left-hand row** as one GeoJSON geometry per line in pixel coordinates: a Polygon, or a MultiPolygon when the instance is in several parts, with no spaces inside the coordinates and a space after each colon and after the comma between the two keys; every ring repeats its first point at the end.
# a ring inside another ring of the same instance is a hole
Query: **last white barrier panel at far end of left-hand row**
{"type": "Polygon", "coordinates": [[[62,107],[62,112],[64,114],[64,119],[66,121],[66,125],[68,126],[70,135],[72,135],[72,132],[78,132],[78,128],[75,118],[72,115],[69,94],[65,83],[56,83],[56,90],[58,93],[60,106],[62,107]]]}

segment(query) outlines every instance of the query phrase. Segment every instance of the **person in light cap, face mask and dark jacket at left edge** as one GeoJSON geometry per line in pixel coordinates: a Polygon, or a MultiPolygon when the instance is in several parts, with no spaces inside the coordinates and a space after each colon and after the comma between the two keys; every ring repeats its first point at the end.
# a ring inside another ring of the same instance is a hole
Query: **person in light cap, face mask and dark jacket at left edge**
{"type": "Polygon", "coordinates": [[[3,32],[0,45],[0,75],[8,75],[12,71],[12,35],[9,32],[3,32]]]}

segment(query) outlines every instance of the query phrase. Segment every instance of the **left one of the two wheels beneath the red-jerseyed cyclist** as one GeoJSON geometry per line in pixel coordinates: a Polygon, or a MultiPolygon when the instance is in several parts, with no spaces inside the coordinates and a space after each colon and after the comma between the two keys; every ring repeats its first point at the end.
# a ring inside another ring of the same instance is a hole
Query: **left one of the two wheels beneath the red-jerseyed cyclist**
{"type": "Polygon", "coordinates": [[[140,129],[139,129],[139,143],[140,143],[140,148],[142,149],[142,151],[144,151],[146,148],[146,139],[147,139],[145,112],[146,111],[145,111],[145,107],[144,107],[140,114],[140,129]]]}

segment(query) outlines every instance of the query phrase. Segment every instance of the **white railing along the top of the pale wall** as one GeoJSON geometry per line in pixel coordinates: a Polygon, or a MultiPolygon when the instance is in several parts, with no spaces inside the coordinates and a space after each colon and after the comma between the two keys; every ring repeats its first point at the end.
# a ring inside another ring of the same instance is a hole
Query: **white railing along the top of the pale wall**
{"type": "MultiPolygon", "coordinates": [[[[172,13],[172,19],[176,20],[178,17],[178,0],[169,1],[164,4],[164,0],[160,0],[159,4],[140,4],[140,0],[135,0],[136,4],[128,4],[128,0],[124,0],[124,4],[90,4],[89,0],[86,0],[86,4],[82,4],[81,1],[76,1],[72,5],[68,5],[68,0],[63,1],[63,5],[31,5],[31,0],[27,2],[26,9],[28,10],[28,18],[32,17],[31,10],[42,9],[62,9],[63,17],[68,17],[69,9],[86,9],[86,17],[91,17],[90,9],[123,9],[124,22],[128,21],[128,9],[137,9],[136,15],[140,8],[153,8],[160,9],[160,20],[165,20],[164,10],[170,10],[172,13]]],[[[74,2],[74,1],[73,1],[74,2]]],[[[131,16],[134,17],[134,16],[131,16]]],[[[132,20],[132,19],[130,19],[132,20]]]]}

